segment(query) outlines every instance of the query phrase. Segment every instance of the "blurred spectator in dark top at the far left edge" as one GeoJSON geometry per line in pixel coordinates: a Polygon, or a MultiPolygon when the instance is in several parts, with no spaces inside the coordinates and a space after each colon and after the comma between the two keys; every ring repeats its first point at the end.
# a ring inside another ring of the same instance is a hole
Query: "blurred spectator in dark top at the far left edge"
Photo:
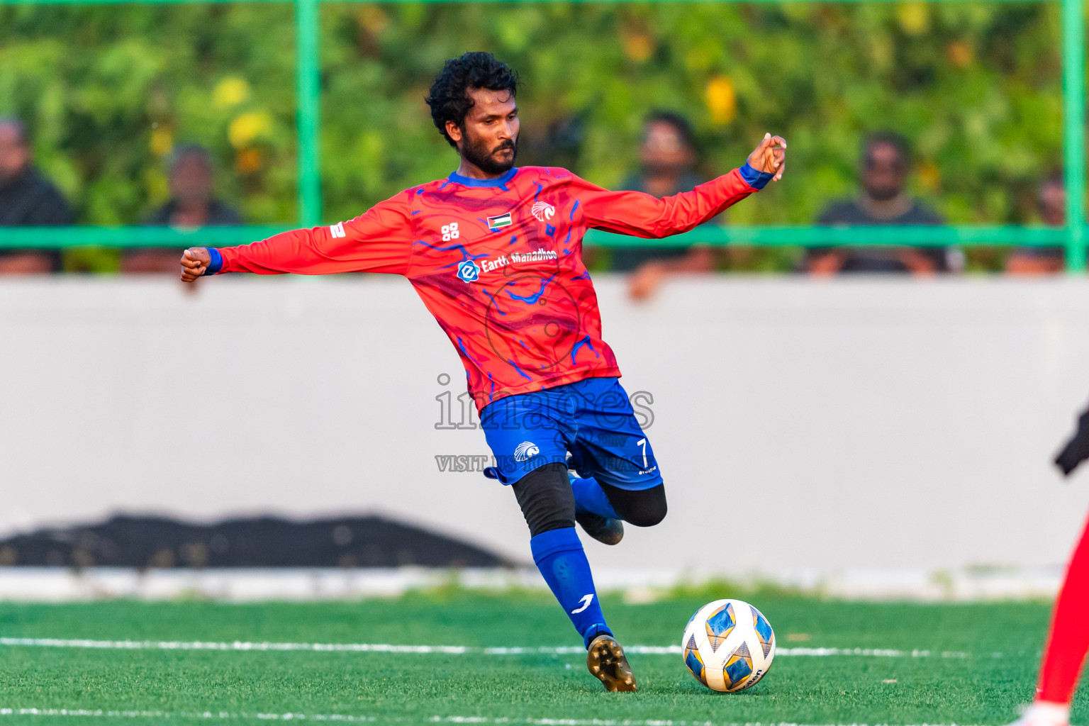
{"type": "MultiPolygon", "coordinates": [[[[0,225],[65,225],[72,212],[56,186],[45,180],[30,159],[26,128],[15,119],[0,118],[0,225]]],[[[34,274],[61,269],[59,249],[2,249],[0,274],[34,274]]]]}

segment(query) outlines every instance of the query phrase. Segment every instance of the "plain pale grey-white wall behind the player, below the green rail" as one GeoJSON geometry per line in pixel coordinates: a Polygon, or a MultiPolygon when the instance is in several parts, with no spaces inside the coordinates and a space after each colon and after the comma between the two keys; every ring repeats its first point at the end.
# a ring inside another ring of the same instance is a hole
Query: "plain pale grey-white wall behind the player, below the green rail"
{"type": "MultiPolygon", "coordinates": [[[[670,501],[588,544],[599,566],[1065,561],[1089,471],[1067,485],[1050,458],[1089,399],[1089,282],[677,279],[646,305],[597,286],[670,501]]],[[[513,495],[439,469],[489,453],[435,428],[463,381],[403,280],[3,280],[0,532],[377,510],[528,561],[513,495]]]]}

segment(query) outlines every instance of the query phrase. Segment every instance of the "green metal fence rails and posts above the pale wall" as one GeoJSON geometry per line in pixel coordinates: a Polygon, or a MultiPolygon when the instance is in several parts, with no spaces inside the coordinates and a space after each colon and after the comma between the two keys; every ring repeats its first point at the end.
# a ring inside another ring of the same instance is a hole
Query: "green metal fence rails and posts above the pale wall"
{"type": "MultiPolygon", "coordinates": [[[[130,4],[169,2],[235,2],[237,0],[0,0],[0,4],[130,4]]],[[[255,1],[255,0],[246,0],[255,1]]],[[[293,2],[295,5],[295,89],[296,133],[298,145],[298,225],[316,226],[321,217],[321,88],[319,76],[319,0],[256,0],[293,2]]],[[[337,0],[343,2],[344,0],[337,0]]],[[[388,2],[417,0],[384,0],[388,2]]],[[[466,0],[424,0],[451,2],[466,0]]],[[[568,0],[467,0],[469,2],[568,1],[568,0]]],[[[579,0],[575,0],[579,1],[579,0]]],[[[600,1],[600,0],[595,0],[600,1]]],[[[626,0],[611,0],[624,2],[626,0]]],[[[658,0],[669,2],[671,0],[658,0]]],[[[709,0],[717,1],[717,0],[709,0]]],[[[780,2],[781,0],[745,0],[780,2]]],[[[800,2],[827,0],[793,0],[800,2]]],[[[868,2],[891,0],[836,0],[868,2]]],[[[956,2],[958,0],[932,0],[956,2]]],[[[1026,0],[1019,0],[1026,1],[1026,0]]],[[[1066,226],[1042,229],[1024,226],[731,226],[700,227],[668,239],[645,241],[591,231],[587,242],[602,246],[672,245],[693,243],[713,245],[762,245],[803,247],[834,245],[1026,245],[1063,246],[1066,269],[1086,269],[1086,51],[1084,0],[1028,0],[1061,2],[1063,26],[1063,160],[1066,182],[1066,226]]],[[[69,226],[0,227],[0,248],[51,248],[105,245],[112,247],[151,247],[187,245],[232,245],[261,239],[286,226],[206,227],[175,230],[148,226],[69,226]]]]}

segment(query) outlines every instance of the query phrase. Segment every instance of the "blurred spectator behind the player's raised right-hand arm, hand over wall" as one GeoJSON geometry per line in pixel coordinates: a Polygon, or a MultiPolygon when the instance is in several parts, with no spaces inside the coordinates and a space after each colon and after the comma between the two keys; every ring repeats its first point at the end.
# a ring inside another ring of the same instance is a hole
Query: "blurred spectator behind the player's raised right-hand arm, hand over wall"
{"type": "MultiPolygon", "coordinates": [[[[620,186],[624,190],[646,192],[668,197],[689,192],[706,180],[699,177],[696,164],[696,135],[692,126],[675,113],[656,111],[646,121],[641,168],[620,186]]],[[[635,299],[650,297],[661,282],[673,272],[710,272],[714,256],[705,245],[695,247],[619,247],[613,249],[613,270],[632,272],[628,293],[635,299]]]]}

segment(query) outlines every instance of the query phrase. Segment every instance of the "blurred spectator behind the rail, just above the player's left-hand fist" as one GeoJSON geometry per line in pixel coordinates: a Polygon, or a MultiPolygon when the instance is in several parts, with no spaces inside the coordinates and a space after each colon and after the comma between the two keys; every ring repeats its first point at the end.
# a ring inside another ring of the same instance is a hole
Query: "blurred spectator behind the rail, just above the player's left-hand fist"
{"type": "MultiPolygon", "coordinates": [[[[189,144],[179,147],[170,165],[170,200],[145,222],[155,226],[230,226],[242,224],[242,218],[215,197],[208,150],[189,144]]],[[[122,257],[121,271],[176,273],[179,257],[176,249],[133,249],[122,257]]]]}

